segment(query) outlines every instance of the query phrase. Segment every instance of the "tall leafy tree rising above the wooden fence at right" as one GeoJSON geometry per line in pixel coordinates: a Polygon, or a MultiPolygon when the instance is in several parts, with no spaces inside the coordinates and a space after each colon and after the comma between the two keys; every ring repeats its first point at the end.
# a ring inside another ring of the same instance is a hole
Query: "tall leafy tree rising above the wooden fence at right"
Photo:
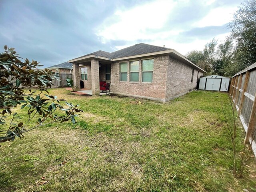
{"type": "Polygon", "coordinates": [[[256,1],[247,0],[236,11],[229,25],[236,46],[234,63],[240,70],[256,62],[256,1]]]}

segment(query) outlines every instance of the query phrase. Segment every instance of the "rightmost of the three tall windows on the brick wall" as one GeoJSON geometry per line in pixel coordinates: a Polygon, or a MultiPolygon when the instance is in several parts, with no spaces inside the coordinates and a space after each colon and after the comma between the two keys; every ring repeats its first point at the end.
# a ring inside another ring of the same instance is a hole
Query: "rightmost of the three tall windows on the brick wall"
{"type": "Polygon", "coordinates": [[[142,82],[152,83],[153,63],[154,59],[142,60],[142,82]]]}

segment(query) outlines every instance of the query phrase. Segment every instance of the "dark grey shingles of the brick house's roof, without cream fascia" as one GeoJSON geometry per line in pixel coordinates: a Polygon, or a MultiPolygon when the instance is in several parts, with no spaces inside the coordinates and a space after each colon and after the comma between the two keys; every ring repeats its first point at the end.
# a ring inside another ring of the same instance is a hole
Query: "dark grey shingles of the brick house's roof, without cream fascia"
{"type": "MultiPolygon", "coordinates": [[[[170,50],[169,48],[164,48],[164,47],[159,47],[159,46],[154,46],[154,45],[149,45],[145,43],[139,43],[115,52],[106,52],[106,51],[96,51],[78,58],[86,57],[89,55],[96,55],[96,56],[101,56],[101,57],[107,57],[111,59],[115,58],[121,58],[121,57],[128,57],[128,56],[134,56],[134,55],[140,55],[140,54],[146,54],[146,53],[153,53],[153,52],[158,52],[158,51],[165,51],[165,50],[170,50]]],[[[78,59],[76,58],[76,59],[78,59]]]]}

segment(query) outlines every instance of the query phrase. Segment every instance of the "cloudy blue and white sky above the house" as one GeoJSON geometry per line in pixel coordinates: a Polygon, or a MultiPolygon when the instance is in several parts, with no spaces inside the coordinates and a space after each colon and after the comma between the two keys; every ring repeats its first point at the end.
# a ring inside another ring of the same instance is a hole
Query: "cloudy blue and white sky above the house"
{"type": "Polygon", "coordinates": [[[0,0],[0,50],[49,67],[98,50],[137,43],[185,55],[229,34],[242,0],[13,1],[0,0]]]}

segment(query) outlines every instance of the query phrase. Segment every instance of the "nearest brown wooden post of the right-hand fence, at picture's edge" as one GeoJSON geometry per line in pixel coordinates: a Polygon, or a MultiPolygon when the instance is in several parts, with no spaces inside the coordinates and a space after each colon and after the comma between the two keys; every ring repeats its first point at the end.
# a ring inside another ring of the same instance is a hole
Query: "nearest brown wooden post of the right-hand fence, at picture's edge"
{"type": "MultiPolygon", "coordinates": [[[[246,132],[246,136],[245,136],[245,140],[244,140],[244,142],[246,144],[250,143],[250,136],[251,136],[252,133],[254,133],[254,130],[256,128],[255,124],[256,124],[256,94],[255,94],[254,102],[253,102],[253,105],[252,105],[252,111],[251,111],[251,114],[250,114],[248,130],[246,132]]],[[[254,134],[252,134],[252,135],[254,136],[254,134]]],[[[252,140],[253,139],[254,138],[252,138],[252,140]]]]}

